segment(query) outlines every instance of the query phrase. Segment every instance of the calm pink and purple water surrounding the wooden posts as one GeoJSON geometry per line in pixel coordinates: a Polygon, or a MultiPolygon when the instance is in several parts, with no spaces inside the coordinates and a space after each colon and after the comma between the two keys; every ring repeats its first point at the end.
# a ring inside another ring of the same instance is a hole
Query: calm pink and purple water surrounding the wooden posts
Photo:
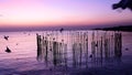
{"type": "Polygon", "coordinates": [[[0,32],[0,75],[69,75],[81,69],[106,66],[123,68],[132,63],[132,33],[116,33],[121,34],[122,42],[121,53],[117,55],[114,32],[0,32]],[[36,33],[41,35],[41,41],[48,41],[47,46],[44,42],[37,44],[36,33]],[[4,35],[9,36],[8,41],[4,35]],[[59,44],[58,47],[54,42],[59,44]],[[4,52],[7,46],[11,53],[4,52]]]}

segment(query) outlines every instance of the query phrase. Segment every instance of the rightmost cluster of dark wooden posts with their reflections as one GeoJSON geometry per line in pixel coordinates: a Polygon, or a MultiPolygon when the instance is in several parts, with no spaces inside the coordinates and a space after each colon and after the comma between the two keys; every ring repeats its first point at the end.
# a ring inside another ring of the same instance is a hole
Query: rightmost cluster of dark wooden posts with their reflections
{"type": "Polygon", "coordinates": [[[96,64],[106,64],[106,61],[116,62],[122,56],[121,32],[92,32],[91,34],[91,61],[96,64]]]}

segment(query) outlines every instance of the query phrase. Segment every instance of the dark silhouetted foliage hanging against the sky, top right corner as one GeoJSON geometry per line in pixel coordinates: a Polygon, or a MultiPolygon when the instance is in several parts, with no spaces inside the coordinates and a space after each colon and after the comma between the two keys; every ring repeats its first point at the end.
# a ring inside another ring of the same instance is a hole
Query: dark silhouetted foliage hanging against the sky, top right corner
{"type": "Polygon", "coordinates": [[[132,11],[132,0],[121,0],[119,3],[114,3],[112,4],[112,9],[118,9],[118,8],[121,8],[121,9],[130,9],[132,11]]]}

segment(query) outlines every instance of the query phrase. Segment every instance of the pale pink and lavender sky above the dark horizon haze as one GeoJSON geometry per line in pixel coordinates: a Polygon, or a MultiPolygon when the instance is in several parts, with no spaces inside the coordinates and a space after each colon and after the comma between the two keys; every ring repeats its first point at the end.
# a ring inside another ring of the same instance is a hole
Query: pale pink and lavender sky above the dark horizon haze
{"type": "Polygon", "coordinates": [[[1,26],[125,24],[132,11],[112,10],[119,0],[0,0],[1,26]]]}

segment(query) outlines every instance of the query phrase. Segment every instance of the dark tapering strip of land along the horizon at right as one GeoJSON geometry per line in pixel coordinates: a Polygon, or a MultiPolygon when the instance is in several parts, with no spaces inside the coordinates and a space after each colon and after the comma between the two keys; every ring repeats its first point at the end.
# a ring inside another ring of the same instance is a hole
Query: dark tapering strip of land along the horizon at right
{"type": "Polygon", "coordinates": [[[111,26],[111,28],[99,28],[94,30],[103,30],[103,31],[127,31],[132,32],[132,25],[121,25],[121,26],[111,26]]]}

